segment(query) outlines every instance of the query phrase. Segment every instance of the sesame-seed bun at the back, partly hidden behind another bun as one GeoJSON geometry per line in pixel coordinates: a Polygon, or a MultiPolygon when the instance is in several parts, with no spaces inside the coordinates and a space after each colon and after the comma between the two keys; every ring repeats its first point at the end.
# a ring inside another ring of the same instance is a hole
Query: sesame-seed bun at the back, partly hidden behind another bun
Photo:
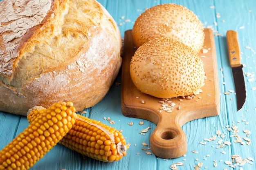
{"type": "Polygon", "coordinates": [[[141,13],[132,28],[137,47],[157,37],[178,40],[199,52],[204,44],[204,29],[198,17],[186,7],[160,4],[141,13]]]}

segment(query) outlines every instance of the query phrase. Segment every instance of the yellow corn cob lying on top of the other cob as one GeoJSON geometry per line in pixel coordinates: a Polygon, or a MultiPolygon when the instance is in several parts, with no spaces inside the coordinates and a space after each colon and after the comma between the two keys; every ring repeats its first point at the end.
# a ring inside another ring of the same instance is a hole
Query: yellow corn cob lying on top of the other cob
{"type": "Polygon", "coordinates": [[[36,113],[37,117],[0,151],[0,170],[27,170],[33,166],[72,128],[75,111],[71,102],[29,110],[31,115],[36,113]]]}

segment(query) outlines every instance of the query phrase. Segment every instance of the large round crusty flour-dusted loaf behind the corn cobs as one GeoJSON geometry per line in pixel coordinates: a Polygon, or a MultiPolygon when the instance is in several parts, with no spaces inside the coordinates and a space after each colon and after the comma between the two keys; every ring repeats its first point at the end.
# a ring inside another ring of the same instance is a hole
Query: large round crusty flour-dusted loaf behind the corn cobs
{"type": "Polygon", "coordinates": [[[0,110],[26,115],[100,102],[121,66],[121,34],[96,0],[0,2],[0,110]]]}

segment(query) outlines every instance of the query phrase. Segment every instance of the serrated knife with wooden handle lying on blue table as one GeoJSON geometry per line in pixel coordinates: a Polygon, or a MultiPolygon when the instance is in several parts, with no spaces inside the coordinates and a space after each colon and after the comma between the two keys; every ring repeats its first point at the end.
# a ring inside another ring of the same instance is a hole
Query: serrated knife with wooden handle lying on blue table
{"type": "Polygon", "coordinates": [[[233,72],[233,78],[236,88],[237,111],[245,105],[247,94],[245,86],[245,77],[243,65],[241,64],[240,48],[238,44],[238,33],[233,30],[227,31],[227,46],[229,53],[229,62],[233,72]]]}

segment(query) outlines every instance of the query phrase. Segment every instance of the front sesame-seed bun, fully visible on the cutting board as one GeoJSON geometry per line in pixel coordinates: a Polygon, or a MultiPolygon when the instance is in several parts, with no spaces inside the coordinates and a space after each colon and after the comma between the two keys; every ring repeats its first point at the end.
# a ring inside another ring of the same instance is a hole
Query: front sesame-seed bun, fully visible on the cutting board
{"type": "Polygon", "coordinates": [[[204,68],[198,53],[169,38],[155,38],[137,49],[130,76],[142,92],[158,98],[191,95],[204,84],[204,68]]]}

